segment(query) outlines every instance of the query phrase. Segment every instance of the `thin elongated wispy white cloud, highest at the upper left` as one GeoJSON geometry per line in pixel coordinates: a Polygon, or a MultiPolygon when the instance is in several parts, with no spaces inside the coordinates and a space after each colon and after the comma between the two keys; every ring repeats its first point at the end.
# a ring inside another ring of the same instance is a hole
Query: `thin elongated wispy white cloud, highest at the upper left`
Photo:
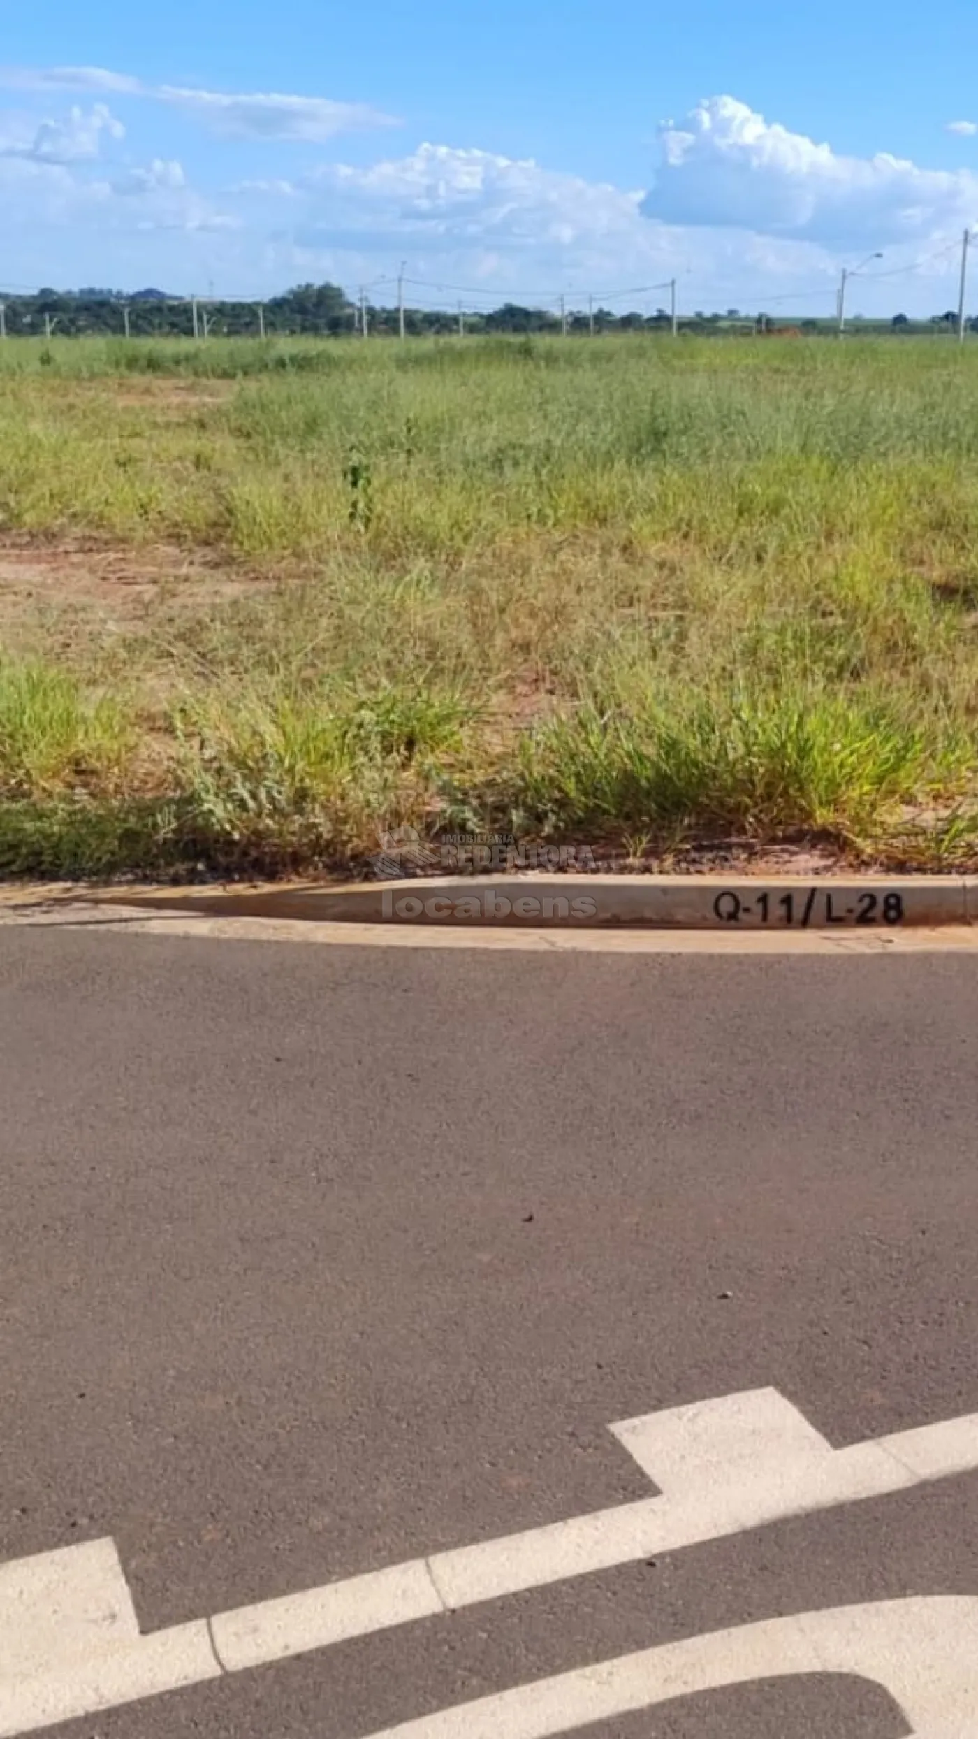
{"type": "Polygon", "coordinates": [[[148,97],[196,115],[212,132],[233,139],[295,139],[323,144],[360,127],[393,127],[394,120],[367,103],[301,97],[285,92],[224,92],[193,85],[153,85],[104,66],[0,70],[0,83],[17,90],[89,90],[148,97]]]}

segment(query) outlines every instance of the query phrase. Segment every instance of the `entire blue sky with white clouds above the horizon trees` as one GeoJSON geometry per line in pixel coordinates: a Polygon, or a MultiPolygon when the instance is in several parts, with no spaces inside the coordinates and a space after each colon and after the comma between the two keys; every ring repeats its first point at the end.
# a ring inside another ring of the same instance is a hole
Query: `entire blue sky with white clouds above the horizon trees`
{"type": "Polygon", "coordinates": [[[10,289],[801,315],[879,250],[849,308],[929,313],[978,224],[975,0],[47,0],[0,63],[10,289]]]}

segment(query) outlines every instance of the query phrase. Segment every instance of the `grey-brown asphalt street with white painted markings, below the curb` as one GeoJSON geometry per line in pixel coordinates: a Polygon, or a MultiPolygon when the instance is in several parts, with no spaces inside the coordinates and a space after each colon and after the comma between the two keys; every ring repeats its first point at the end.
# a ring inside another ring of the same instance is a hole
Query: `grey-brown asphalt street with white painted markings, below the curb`
{"type": "Polygon", "coordinates": [[[5,930],[0,1734],[978,1732],[976,1033],[964,953],[5,930]]]}

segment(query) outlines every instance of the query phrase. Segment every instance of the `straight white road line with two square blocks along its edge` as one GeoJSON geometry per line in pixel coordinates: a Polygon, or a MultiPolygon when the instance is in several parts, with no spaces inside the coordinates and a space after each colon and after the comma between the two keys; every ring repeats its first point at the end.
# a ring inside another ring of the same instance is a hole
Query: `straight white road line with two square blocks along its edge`
{"type": "Polygon", "coordinates": [[[113,1541],[0,1565],[0,1739],[222,1671],[978,1468],[978,1416],[836,1450],[776,1389],[676,1407],[611,1429],[660,1496],[257,1602],[153,1636],[139,1635],[113,1541]]]}

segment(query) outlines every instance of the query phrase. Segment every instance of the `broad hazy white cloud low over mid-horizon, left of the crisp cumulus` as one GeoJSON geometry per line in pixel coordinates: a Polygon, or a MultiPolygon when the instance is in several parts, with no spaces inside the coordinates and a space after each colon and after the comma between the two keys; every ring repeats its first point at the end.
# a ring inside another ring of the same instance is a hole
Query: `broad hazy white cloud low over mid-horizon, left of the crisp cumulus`
{"type": "MultiPolygon", "coordinates": [[[[690,231],[641,216],[641,191],[585,181],[532,160],[422,144],[367,167],[321,165],[288,202],[248,207],[264,221],[264,270],[283,280],[356,285],[391,278],[408,257],[412,296],[492,306],[504,297],[585,308],[655,310],[679,278],[683,308],[743,303],[745,283],[834,296],[836,264],[818,247],[733,230],[690,231]],[[466,287],[459,292],[459,285],[466,287]],[[618,299],[629,290],[634,301],[618,299]]],[[[384,292],[377,292],[379,296],[384,292]]],[[[389,290],[387,294],[393,294],[389,290]]],[[[816,303],[818,306],[818,303],[816,303]]]]}

